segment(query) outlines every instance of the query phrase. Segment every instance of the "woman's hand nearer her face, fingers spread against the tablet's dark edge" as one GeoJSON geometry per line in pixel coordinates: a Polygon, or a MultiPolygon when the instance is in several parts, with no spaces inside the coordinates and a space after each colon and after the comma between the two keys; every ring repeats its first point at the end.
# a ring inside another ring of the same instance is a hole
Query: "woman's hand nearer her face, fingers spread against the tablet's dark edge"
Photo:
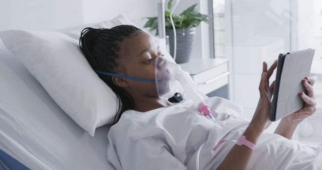
{"type": "Polygon", "coordinates": [[[274,72],[274,69],[277,67],[277,60],[272,64],[272,66],[267,70],[267,63],[263,62],[263,72],[262,78],[260,81],[259,91],[260,99],[253,116],[253,119],[250,123],[250,127],[255,130],[258,130],[259,133],[262,133],[266,128],[271,125],[269,120],[271,99],[274,91],[275,81],[269,86],[269,78],[274,72]]]}

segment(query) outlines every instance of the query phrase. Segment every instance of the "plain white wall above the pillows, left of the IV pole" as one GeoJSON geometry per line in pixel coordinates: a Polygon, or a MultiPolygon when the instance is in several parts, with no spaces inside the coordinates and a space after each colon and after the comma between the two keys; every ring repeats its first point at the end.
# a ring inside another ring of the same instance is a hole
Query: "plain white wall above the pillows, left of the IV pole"
{"type": "Polygon", "coordinates": [[[143,17],[157,16],[156,0],[0,0],[0,30],[55,30],[109,20],[125,14],[143,27],[143,17]]]}

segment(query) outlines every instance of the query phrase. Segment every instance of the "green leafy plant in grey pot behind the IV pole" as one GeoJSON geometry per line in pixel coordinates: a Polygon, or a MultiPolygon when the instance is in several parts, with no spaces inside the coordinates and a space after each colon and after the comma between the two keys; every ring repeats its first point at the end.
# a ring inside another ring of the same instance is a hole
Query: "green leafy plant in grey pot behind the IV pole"
{"type": "MultiPolygon", "coordinates": [[[[172,1],[168,3],[168,9],[172,8],[172,1]]],[[[176,62],[184,63],[188,62],[191,58],[191,52],[193,48],[193,41],[195,39],[195,30],[200,23],[208,23],[208,15],[203,15],[198,13],[195,10],[197,4],[192,5],[179,15],[172,14],[172,19],[176,27],[176,36],[177,36],[177,54],[176,62]]],[[[150,28],[149,31],[152,32],[156,30],[156,35],[158,35],[158,25],[157,17],[146,17],[147,22],[144,25],[144,28],[150,28]]],[[[165,20],[166,20],[166,35],[169,36],[169,45],[170,45],[170,54],[174,55],[174,32],[170,20],[170,12],[165,11],[165,20]]]]}

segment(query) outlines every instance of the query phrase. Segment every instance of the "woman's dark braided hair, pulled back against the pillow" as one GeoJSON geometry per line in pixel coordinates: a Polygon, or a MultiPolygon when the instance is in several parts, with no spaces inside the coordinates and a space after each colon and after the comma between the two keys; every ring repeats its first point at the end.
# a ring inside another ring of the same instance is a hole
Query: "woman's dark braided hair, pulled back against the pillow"
{"type": "MultiPolygon", "coordinates": [[[[122,42],[126,38],[131,38],[141,33],[143,33],[141,29],[131,25],[119,25],[111,29],[87,27],[81,33],[79,47],[93,69],[116,73],[116,69],[119,66],[117,60],[121,57],[120,47],[122,42]]],[[[115,124],[124,111],[133,109],[133,99],[124,89],[116,86],[111,76],[102,74],[98,74],[98,76],[112,89],[118,98],[119,107],[113,122],[115,124]]]]}

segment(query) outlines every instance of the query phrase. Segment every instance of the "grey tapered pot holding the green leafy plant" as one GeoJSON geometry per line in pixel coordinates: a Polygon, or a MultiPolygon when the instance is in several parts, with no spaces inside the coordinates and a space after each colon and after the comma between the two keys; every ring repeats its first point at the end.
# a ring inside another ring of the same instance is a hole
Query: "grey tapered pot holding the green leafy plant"
{"type": "MultiPolygon", "coordinates": [[[[196,28],[183,28],[176,29],[177,35],[177,63],[185,63],[191,59],[191,52],[193,48],[193,42],[195,40],[196,28]]],[[[174,56],[174,34],[173,30],[166,30],[166,35],[169,36],[170,54],[174,56]]]]}

